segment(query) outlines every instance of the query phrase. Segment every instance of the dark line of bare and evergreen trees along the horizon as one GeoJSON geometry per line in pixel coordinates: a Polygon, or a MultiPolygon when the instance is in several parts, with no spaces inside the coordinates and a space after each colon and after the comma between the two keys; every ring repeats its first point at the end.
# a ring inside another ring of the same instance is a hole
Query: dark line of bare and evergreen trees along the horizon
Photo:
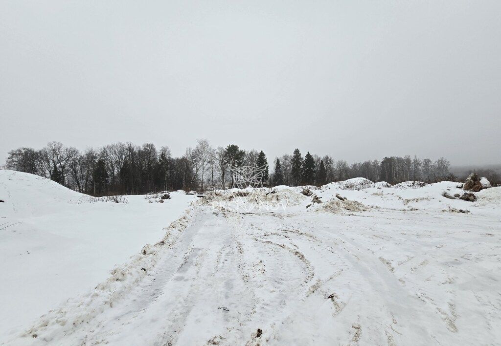
{"type": "MultiPolygon", "coordinates": [[[[231,144],[213,148],[205,139],[184,155],[173,157],[168,147],[151,143],[141,146],[115,143],[80,152],[60,142],[45,148],[19,148],[9,152],[5,168],[52,179],[73,190],[94,196],[143,194],[158,191],[195,190],[204,192],[233,186],[229,165],[261,167],[268,164],[263,151],[242,150],[231,144]]],[[[449,172],[449,162],[417,156],[384,157],[348,164],[330,155],[320,157],[299,149],[275,158],[264,172],[265,186],[324,185],[332,181],[363,177],[374,182],[396,184],[403,181],[457,181],[449,172]]],[[[499,182],[494,170],[482,172],[492,183],[499,182]]]]}

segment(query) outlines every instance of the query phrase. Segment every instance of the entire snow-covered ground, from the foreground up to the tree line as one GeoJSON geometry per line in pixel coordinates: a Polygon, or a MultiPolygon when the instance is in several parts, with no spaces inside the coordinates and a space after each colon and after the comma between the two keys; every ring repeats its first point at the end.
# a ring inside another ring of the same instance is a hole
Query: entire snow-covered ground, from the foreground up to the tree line
{"type": "Polygon", "coordinates": [[[0,228],[12,225],[0,230],[0,340],[499,345],[501,188],[442,196],[456,185],[358,178],[311,196],[116,204],[0,171],[0,228]],[[275,210],[228,208],[249,199],[275,210]]]}

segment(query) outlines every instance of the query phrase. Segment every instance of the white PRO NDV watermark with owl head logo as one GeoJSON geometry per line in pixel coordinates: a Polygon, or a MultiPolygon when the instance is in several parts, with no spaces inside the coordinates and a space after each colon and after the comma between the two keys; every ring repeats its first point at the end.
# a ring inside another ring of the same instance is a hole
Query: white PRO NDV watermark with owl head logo
{"type": "Polygon", "coordinates": [[[287,207],[287,201],[282,201],[277,196],[277,191],[268,191],[264,188],[263,179],[268,165],[229,166],[233,181],[233,191],[224,201],[213,201],[212,208],[222,208],[232,212],[274,211],[287,207]]]}

